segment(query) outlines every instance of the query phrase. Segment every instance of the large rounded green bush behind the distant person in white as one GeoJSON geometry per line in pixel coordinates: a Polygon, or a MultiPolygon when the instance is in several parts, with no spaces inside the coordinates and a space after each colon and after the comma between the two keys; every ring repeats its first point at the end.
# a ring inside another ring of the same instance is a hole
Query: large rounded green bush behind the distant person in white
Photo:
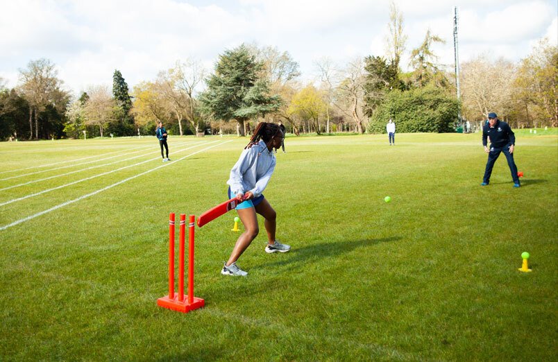
{"type": "Polygon", "coordinates": [[[370,133],[385,133],[393,119],[397,132],[454,132],[459,103],[443,89],[424,87],[401,92],[394,90],[375,110],[368,126],[370,133]]]}

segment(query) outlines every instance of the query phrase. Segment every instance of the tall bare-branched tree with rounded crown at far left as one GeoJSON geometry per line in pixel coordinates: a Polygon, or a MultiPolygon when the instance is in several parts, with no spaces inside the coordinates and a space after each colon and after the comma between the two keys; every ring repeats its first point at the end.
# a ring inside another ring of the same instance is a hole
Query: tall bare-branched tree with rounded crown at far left
{"type": "Polygon", "coordinates": [[[29,104],[29,139],[33,139],[33,116],[35,119],[35,139],[39,139],[39,114],[49,104],[61,101],[62,80],[50,60],[31,60],[26,69],[19,69],[19,89],[29,104]],[[58,98],[58,99],[56,99],[58,98]]]}

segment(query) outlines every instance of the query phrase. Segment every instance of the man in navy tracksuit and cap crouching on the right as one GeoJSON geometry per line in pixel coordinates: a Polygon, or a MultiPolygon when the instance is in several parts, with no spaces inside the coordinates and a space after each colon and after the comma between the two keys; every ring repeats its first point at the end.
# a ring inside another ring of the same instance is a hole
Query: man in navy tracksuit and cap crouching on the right
{"type": "Polygon", "coordinates": [[[511,171],[511,178],[514,179],[514,187],[520,187],[517,166],[513,155],[516,136],[507,123],[498,119],[496,113],[491,112],[488,116],[488,123],[482,127],[482,146],[484,146],[484,152],[489,154],[489,159],[487,169],[484,170],[482,184],[480,185],[487,186],[490,183],[494,162],[498,160],[498,156],[503,152],[506,156],[509,171],[511,171]],[[490,137],[490,149],[487,147],[487,137],[490,137]]]}

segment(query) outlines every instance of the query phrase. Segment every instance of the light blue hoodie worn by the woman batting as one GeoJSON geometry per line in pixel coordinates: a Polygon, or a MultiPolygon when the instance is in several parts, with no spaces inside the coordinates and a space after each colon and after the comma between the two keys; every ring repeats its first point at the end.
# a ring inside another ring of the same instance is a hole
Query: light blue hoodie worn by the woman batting
{"type": "Polygon", "coordinates": [[[227,181],[230,191],[233,195],[251,191],[257,198],[267,187],[275,164],[273,150],[270,152],[264,141],[260,140],[251,148],[246,148],[230,170],[230,178],[227,181]]]}

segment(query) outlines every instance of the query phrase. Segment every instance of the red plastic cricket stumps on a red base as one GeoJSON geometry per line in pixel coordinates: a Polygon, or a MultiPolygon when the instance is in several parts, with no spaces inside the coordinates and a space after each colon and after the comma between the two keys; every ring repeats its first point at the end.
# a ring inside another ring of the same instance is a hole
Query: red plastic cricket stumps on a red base
{"type": "Polygon", "coordinates": [[[169,295],[157,300],[160,307],[187,313],[205,306],[205,300],[194,297],[194,221],[196,216],[189,216],[188,235],[188,294],[184,295],[184,244],[186,214],[180,214],[180,232],[178,239],[178,293],[174,292],[174,212],[169,216],[169,295]]]}

